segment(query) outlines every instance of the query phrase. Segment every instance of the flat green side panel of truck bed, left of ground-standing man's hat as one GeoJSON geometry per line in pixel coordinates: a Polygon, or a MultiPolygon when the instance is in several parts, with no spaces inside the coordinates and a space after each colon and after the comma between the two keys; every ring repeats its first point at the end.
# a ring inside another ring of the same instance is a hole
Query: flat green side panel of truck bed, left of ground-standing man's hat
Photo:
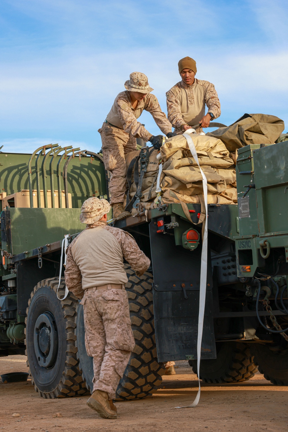
{"type": "MultiPolygon", "coordinates": [[[[20,254],[76,234],[86,228],[80,209],[11,208],[12,254],[20,254]]],[[[2,245],[6,249],[6,245],[2,245]]]]}

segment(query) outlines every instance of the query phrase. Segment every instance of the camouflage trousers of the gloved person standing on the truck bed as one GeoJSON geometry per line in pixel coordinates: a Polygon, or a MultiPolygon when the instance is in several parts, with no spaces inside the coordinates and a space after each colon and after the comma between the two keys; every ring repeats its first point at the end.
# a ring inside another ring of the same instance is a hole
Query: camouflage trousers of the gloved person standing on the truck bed
{"type": "Polygon", "coordinates": [[[136,150],[136,138],[116,126],[103,123],[101,129],[103,159],[105,169],[110,171],[110,204],[123,203],[126,193],[125,155],[136,150]]]}

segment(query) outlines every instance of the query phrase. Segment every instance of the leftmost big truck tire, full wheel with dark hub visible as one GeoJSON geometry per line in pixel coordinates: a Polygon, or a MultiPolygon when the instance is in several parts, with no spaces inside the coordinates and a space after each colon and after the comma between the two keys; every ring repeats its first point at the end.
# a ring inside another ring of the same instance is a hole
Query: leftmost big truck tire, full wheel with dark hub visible
{"type": "MultiPolygon", "coordinates": [[[[57,299],[58,278],[42,280],[34,287],[25,319],[27,365],[32,384],[47,399],[86,393],[76,357],[76,297],[57,299]]],[[[64,278],[60,292],[65,291],[64,278]]]]}

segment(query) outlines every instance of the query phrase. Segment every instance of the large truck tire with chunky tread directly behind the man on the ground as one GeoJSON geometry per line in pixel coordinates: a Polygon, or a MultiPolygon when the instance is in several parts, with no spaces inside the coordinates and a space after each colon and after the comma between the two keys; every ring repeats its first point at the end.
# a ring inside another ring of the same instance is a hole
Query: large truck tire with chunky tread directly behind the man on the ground
{"type": "MultiPolygon", "coordinates": [[[[128,277],[126,291],[136,345],[118,385],[116,400],[142,399],[151,396],[152,391],[161,384],[161,375],[166,371],[163,363],[158,363],[157,360],[152,274],[146,272],[143,276],[138,277],[128,264],[125,264],[125,271],[128,277]]],[[[85,349],[82,305],[77,306],[76,324],[79,367],[82,369],[83,380],[86,381],[87,388],[91,391],[93,362],[85,349]]]]}

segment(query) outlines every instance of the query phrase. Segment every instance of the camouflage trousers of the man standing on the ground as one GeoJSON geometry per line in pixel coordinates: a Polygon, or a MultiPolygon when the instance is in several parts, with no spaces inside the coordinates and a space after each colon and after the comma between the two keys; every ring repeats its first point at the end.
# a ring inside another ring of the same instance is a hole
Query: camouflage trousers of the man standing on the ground
{"type": "Polygon", "coordinates": [[[122,290],[93,288],[85,292],[81,304],[85,346],[93,357],[93,391],[106,391],[114,399],[135,345],[127,292],[124,286],[122,290]]]}

